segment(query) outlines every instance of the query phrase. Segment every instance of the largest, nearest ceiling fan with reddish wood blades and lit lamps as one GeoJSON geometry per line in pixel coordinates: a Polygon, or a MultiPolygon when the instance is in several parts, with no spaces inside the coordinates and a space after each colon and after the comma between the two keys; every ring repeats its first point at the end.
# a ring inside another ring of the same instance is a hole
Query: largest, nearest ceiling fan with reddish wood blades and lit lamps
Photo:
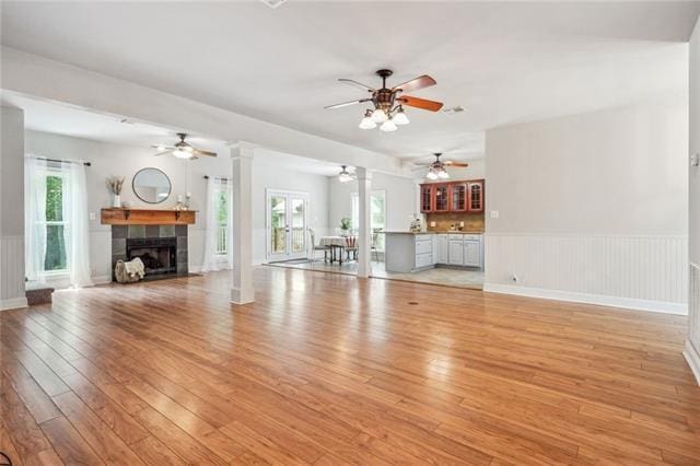
{"type": "Polygon", "coordinates": [[[362,121],[360,121],[360,128],[373,129],[376,128],[377,125],[381,125],[380,129],[382,131],[396,131],[398,129],[398,126],[408,125],[410,123],[408,117],[406,116],[406,113],[404,113],[404,106],[416,107],[429,112],[438,112],[442,108],[442,102],[429,101],[425,98],[406,95],[407,92],[413,92],[420,89],[435,85],[436,82],[434,79],[432,79],[428,74],[423,74],[388,89],[386,86],[386,79],[393,73],[394,72],[392,70],[378,70],[376,72],[376,74],[382,78],[381,89],[374,89],[351,79],[339,79],[338,81],[360,88],[369,92],[370,95],[357,101],[329,105],[325,108],[341,108],[349,105],[371,102],[374,108],[368,108],[364,112],[364,117],[362,118],[362,121]]]}

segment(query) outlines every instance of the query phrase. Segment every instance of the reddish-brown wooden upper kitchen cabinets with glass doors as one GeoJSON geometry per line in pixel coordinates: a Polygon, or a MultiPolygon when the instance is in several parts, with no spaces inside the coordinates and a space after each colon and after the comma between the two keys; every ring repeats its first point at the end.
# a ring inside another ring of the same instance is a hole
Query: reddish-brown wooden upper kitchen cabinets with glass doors
{"type": "Polygon", "coordinates": [[[420,185],[420,211],[483,212],[483,179],[420,185]]]}

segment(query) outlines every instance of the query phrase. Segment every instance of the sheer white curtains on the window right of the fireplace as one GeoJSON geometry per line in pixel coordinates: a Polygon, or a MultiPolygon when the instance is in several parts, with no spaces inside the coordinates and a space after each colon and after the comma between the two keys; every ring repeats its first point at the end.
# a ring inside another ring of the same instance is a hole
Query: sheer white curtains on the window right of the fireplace
{"type": "Polygon", "coordinates": [[[233,228],[231,219],[233,218],[233,186],[231,182],[225,179],[209,177],[207,180],[207,221],[205,230],[205,259],[201,271],[222,270],[233,268],[233,228]],[[220,254],[218,251],[220,226],[218,221],[218,199],[221,191],[225,193],[226,198],[226,231],[225,244],[226,253],[220,254]]]}

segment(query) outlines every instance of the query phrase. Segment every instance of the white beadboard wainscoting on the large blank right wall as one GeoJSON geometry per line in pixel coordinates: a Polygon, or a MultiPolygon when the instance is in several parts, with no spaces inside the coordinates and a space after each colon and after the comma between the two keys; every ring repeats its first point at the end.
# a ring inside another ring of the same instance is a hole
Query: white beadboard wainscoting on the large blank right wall
{"type": "Polygon", "coordinates": [[[486,291],[687,313],[687,236],[488,233],[485,241],[486,291]]]}

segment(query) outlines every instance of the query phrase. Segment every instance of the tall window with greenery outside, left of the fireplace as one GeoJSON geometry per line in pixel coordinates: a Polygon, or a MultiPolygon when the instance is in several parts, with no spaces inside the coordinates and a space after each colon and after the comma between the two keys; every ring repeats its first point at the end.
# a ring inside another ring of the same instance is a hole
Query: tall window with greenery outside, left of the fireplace
{"type": "Polygon", "coordinates": [[[66,258],[66,221],[63,220],[63,177],[59,174],[47,174],[46,183],[46,256],[44,271],[65,271],[68,269],[66,258]]]}

